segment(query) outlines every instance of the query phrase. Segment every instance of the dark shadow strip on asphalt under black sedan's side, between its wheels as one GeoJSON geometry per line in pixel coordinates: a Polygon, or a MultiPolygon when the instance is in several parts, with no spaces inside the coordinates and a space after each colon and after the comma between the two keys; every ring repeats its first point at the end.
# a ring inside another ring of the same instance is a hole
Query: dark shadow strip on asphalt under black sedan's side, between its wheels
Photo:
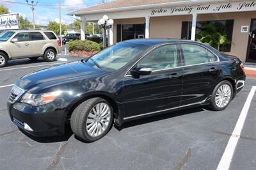
{"type": "Polygon", "coordinates": [[[191,113],[195,113],[195,112],[202,112],[202,111],[204,111],[204,109],[206,109],[206,107],[199,106],[199,107],[193,107],[193,108],[190,108],[190,109],[184,109],[184,110],[181,110],[181,111],[173,111],[173,112],[168,112],[168,113],[164,113],[164,114],[156,114],[156,115],[148,117],[148,118],[141,118],[141,119],[138,119],[138,120],[132,120],[132,121],[125,122],[121,127],[118,127],[118,126],[115,125],[115,128],[118,131],[121,131],[124,128],[134,127],[134,126],[137,126],[137,125],[143,125],[143,124],[150,123],[150,122],[153,122],[153,121],[166,120],[168,118],[174,118],[174,117],[182,116],[182,115],[185,115],[185,114],[191,114],[191,113]]]}

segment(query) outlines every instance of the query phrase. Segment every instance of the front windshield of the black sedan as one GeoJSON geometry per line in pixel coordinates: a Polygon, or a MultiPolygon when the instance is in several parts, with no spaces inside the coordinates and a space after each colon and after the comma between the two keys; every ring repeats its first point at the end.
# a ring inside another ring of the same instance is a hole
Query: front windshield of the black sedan
{"type": "Polygon", "coordinates": [[[121,42],[95,54],[88,61],[92,61],[99,68],[118,70],[148,47],[148,45],[138,43],[121,42]]]}

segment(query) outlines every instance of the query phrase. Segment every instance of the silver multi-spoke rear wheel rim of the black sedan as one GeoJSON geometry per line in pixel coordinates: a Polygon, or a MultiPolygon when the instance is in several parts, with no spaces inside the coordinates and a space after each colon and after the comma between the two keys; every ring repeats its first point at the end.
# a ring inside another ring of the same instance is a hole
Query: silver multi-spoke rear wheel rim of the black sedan
{"type": "Polygon", "coordinates": [[[215,104],[220,107],[226,107],[231,98],[231,88],[228,84],[223,84],[218,88],[215,95],[215,104]]]}

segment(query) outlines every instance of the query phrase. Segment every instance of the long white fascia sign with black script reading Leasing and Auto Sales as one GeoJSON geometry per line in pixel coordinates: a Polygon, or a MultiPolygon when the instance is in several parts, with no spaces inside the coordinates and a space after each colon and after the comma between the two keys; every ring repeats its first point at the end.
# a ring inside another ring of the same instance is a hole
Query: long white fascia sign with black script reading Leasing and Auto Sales
{"type": "Polygon", "coordinates": [[[150,10],[150,15],[187,15],[192,13],[243,12],[253,10],[256,10],[256,1],[198,4],[190,6],[170,6],[170,8],[159,8],[150,10]]]}

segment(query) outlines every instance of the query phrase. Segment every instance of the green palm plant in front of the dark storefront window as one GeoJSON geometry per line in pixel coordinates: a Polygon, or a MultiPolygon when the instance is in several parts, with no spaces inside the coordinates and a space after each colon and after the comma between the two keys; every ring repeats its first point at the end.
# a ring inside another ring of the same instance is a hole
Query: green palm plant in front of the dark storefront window
{"type": "Polygon", "coordinates": [[[198,29],[200,30],[196,35],[198,42],[211,45],[218,50],[223,50],[225,45],[231,43],[227,38],[226,26],[221,22],[208,22],[198,29]]]}

